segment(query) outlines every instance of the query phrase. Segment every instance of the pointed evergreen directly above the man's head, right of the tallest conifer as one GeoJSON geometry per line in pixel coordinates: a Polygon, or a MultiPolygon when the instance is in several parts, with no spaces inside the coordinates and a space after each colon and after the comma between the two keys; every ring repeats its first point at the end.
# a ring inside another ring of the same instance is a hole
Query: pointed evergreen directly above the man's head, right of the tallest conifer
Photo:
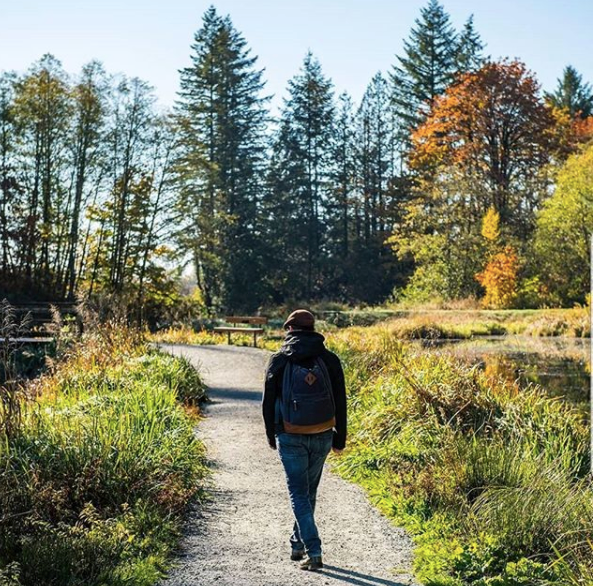
{"type": "Polygon", "coordinates": [[[321,291],[333,89],[310,52],[288,89],[270,167],[270,234],[280,255],[276,282],[287,296],[309,300],[321,291]]]}

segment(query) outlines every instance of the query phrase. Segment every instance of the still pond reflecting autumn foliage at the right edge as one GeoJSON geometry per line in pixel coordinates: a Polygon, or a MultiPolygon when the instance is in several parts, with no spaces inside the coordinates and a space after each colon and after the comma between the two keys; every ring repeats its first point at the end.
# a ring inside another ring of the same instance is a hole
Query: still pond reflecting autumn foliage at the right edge
{"type": "MultiPolygon", "coordinates": [[[[416,342],[412,342],[416,343],[416,342]]],[[[590,341],[587,338],[484,336],[465,340],[423,340],[431,352],[447,353],[490,374],[536,383],[550,395],[582,407],[589,402],[590,341]]]]}

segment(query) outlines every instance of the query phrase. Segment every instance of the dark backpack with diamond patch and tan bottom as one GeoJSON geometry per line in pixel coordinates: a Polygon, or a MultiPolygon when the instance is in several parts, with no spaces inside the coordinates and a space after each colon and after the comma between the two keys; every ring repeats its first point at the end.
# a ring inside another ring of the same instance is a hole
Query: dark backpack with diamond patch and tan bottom
{"type": "Polygon", "coordinates": [[[280,413],[287,433],[318,433],[335,426],[334,394],[321,358],[311,368],[286,361],[280,413]]]}

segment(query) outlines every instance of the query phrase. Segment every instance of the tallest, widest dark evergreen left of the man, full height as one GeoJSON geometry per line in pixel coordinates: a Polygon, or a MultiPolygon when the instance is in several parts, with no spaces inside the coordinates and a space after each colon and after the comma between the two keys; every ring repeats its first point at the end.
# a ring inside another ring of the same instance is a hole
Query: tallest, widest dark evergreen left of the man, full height
{"type": "Polygon", "coordinates": [[[228,16],[214,7],[181,70],[177,102],[181,232],[208,306],[257,305],[256,255],[267,120],[262,71],[228,16]]]}

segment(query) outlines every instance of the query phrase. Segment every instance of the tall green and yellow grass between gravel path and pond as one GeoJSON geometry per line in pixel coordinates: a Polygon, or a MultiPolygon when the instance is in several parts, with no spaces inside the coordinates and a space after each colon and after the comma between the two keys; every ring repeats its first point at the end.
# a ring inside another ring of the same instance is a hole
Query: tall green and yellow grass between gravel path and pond
{"type": "Polygon", "coordinates": [[[386,329],[334,333],[330,346],[344,360],[350,406],[335,467],[412,533],[423,583],[591,583],[578,582],[593,567],[579,412],[414,351],[386,329]]]}

